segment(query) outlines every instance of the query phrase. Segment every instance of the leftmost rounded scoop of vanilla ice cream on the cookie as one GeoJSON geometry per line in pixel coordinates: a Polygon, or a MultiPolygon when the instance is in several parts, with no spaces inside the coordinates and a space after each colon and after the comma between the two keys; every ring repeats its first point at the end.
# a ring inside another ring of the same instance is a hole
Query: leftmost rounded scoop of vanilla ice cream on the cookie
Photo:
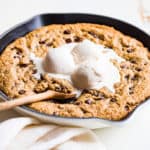
{"type": "Polygon", "coordinates": [[[70,74],[75,69],[71,50],[75,43],[49,49],[43,60],[43,68],[49,73],[70,74]]]}

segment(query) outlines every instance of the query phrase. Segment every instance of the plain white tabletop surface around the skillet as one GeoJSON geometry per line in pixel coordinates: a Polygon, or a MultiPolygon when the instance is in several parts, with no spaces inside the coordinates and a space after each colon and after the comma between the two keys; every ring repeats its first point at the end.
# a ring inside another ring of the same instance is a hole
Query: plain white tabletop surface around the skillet
{"type": "MultiPolygon", "coordinates": [[[[150,7],[150,5],[149,5],[150,7]]],[[[45,12],[84,12],[112,16],[143,28],[137,0],[0,0],[0,33],[9,27],[45,12]]],[[[150,102],[123,127],[99,129],[108,150],[150,149],[150,102]]],[[[0,121],[19,116],[14,111],[0,113],[0,121]]]]}

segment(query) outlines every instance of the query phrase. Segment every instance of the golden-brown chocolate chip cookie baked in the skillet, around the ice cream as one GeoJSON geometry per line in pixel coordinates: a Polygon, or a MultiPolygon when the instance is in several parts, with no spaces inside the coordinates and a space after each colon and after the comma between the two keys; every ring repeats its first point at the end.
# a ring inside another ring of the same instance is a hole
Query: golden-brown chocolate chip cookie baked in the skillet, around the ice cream
{"type": "Polygon", "coordinates": [[[117,64],[121,81],[115,93],[107,88],[83,90],[73,100],[46,100],[29,107],[51,115],[65,117],[98,117],[120,120],[150,96],[150,53],[143,44],[112,27],[77,23],[49,25],[34,30],[9,44],[0,56],[0,90],[11,98],[48,89],[71,93],[74,87],[63,79],[42,74],[34,77],[37,68],[30,60],[30,52],[44,57],[50,47],[84,39],[112,48],[126,61],[117,64]]]}

